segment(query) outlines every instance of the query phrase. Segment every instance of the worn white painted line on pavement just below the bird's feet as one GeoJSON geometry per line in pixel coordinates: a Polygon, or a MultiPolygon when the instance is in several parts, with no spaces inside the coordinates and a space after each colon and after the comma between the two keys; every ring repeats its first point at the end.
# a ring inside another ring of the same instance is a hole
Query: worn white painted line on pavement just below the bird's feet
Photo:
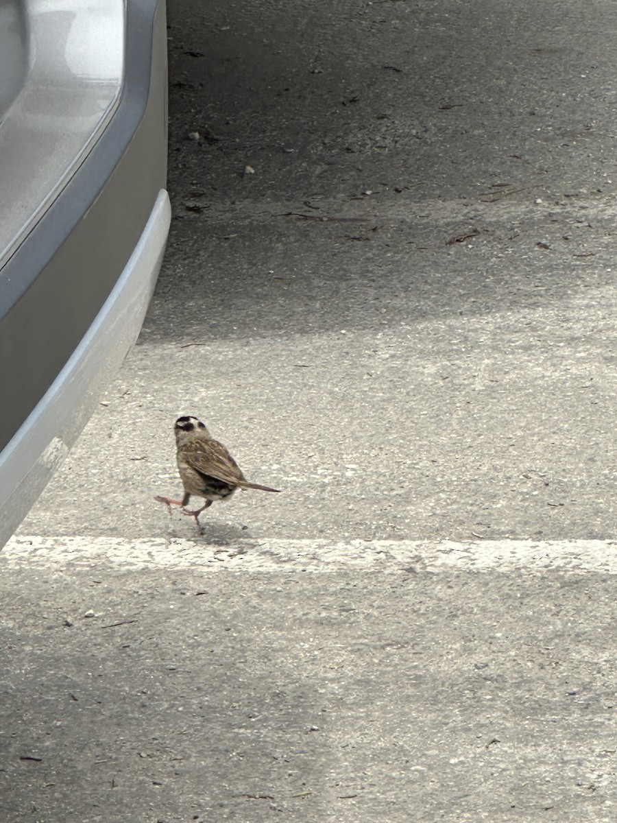
{"type": "Polygon", "coordinates": [[[246,572],[355,568],[398,572],[502,572],[617,574],[617,541],[537,542],[242,540],[220,546],[204,541],[114,537],[12,537],[0,552],[0,565],[126,569],[195,569],[246,572]]]}

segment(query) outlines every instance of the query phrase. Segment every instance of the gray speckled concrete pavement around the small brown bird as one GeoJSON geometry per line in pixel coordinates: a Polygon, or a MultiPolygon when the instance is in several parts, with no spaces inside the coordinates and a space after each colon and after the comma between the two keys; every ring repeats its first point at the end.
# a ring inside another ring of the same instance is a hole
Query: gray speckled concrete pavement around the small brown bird
{"type": "Polygon", "coordinates": [[[0,556],[0,819],[615,819],[616,32],[169,2],[165,269],[0,556]],[[179,413],[284,493],[169,517],[179,413]]]}

